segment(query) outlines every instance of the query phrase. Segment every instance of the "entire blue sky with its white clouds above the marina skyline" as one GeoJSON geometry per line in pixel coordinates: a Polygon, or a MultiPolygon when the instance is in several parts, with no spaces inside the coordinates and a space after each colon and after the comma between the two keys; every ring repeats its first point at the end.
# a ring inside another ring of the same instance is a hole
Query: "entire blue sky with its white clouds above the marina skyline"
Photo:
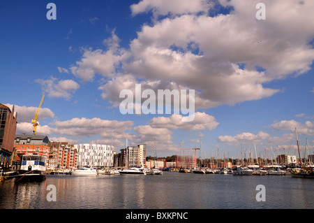
{"type": "MultiPolygon", "coordinates": [[[[17,134],[45,93],[37,134],[54,141],[146,143],[147,154],[200,147],[237,157],[269,142],[314,148],[313,1],[1,1],[0,102],[17,134]],[[47,20],[47,3],[57,20],[47,20]],[[266,6],[257,20],[256,4],[266,6]],[[289,24],[289,25],[287,25],[289,24]],[[122,115],[121,89],[195,89],[195,120],[122,115]],[[202,136],[202,137],[200,137],[202,136]]],[[[278,149],[277,149],[278,148],[278,149]]],[[[190,150],[193,151],[193,150],[190,150]]],[[[268,153],[269,154],[269,153],[268,153]]]]}

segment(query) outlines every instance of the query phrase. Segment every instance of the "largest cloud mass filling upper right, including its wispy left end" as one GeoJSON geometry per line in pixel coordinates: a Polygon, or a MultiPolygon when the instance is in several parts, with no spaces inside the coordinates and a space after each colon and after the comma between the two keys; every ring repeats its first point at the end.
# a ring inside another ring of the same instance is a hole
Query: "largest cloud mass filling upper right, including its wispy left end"
{"type": "Polygon", "coordinates": [[[107,50],[84,50],[70,71],[84,81],[96,73],[108,78],[99,89],[115,106],[118,89],[135,82],[195,89],[195,108],[272,96],[281,89],[265,84],[311,68],[314,24],[308,20],[314,20],[314,2],[265,1],[267,20],[256,20],[258,2],[140,1],[130,7],[133,16],[153,12],[160,17],[143,24],[128,49],[112,31],[104,41],[107,50]],[[232,12],[211,15],[218,4],[232,12]]]}

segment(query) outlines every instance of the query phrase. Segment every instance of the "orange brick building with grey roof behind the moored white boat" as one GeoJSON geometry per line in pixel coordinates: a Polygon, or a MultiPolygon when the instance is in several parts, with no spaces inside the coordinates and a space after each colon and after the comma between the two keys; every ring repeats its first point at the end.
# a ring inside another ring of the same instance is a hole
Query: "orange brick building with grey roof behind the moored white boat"
{"type": "Polygon", "coordinates": [[[39,154],[47,157],[47,164],[50,154],[50,141],[48,136],[40,135],[16,135],[14,141],[15,157],[14,160],[20,160],[23,154],[39,154]]]}

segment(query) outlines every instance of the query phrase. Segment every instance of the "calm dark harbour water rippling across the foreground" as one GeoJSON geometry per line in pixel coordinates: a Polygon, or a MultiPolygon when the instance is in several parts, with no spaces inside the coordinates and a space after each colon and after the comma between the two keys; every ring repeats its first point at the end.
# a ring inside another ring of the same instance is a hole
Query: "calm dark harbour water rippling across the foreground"
{"type": "Polygon", "coordinates": [[[44,182],[0,184],[0,208],[314,208],[314,180],[164,172],[163,175],[47,175],[44,182]],[[47,201],[47,185],[57,201],[47,201]],[[255,199],[264,185],[266,201],[255,199]]]}

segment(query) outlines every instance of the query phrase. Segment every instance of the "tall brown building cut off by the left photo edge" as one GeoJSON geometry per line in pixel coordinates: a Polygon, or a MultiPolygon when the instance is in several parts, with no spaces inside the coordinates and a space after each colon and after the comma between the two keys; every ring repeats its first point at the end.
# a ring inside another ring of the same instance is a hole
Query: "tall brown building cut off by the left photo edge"
{"type": "Polygon", "coordinates": [[[0,168],[8,168],[12,161],[16,124],[17,113],[14,106],[10,108],[0,103],[0,168]]]}

